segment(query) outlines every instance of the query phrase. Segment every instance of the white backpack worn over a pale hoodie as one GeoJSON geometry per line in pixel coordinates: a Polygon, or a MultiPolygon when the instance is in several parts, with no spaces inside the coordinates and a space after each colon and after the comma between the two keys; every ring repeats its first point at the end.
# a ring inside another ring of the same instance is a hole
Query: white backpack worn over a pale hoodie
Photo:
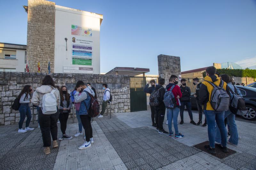
{"type": "Polygon", "coordinates": [[[42,112],[44,115],[52,115],[57,112],[57,101],[54,95],[56,89],[53,89],[49,93],[45,93],[42,100],[42,112]]]}

